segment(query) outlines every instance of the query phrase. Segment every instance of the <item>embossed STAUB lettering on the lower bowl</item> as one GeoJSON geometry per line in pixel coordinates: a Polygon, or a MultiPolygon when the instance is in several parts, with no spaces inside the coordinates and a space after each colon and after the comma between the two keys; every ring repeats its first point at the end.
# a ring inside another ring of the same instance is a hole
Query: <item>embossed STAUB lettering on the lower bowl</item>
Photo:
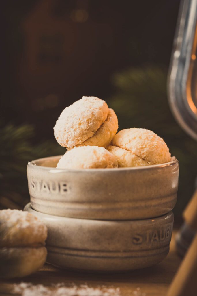
{"type": "Polygon", "coordinates": [[[160,229],[153,229],[145,233],[136,233],[132,237],[133,244],[152,244],[154,242],[161,242],[170,239],[172,234],[171,225],[166,225],[160,229]]]}

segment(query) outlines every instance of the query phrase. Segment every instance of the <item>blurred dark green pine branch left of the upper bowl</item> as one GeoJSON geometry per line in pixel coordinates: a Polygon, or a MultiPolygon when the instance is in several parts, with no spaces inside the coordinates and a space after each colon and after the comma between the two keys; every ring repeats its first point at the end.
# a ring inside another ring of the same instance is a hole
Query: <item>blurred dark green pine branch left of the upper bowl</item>
{"type": "Polygon", "coordinates": [[[22,208],[29,200],[26,168],[28,161],[60,155],[65,148],[56,141],[32,145],[31,125],[0,127],[0,207],[22,208]]]}

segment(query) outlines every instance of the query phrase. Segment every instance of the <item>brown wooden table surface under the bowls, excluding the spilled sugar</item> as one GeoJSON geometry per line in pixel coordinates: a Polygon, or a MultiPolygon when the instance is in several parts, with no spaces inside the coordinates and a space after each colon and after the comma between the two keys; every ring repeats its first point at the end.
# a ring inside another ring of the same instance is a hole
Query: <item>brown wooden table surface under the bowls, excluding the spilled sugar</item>
{"type": "Polygon", "coordinates": [[[136,295],[134,291],[139,287],[143,295],[146,293],[146,296],[163,296],[166,295],[180,262],[181,258],[175,252],[175,231],[173,231],[170,252],[165,260],[156,266],[125,274],[87,274],[61,270],[45,264],[41,270],[26,278],[0,280],[0,295],[14,295],[13,284],[23,281],[47,287],[60,282],[64,282],[65,285],[74,283],[76,286],[87,283],[89,287],[113,286],[120,288],[121,296],[136,295]]]}

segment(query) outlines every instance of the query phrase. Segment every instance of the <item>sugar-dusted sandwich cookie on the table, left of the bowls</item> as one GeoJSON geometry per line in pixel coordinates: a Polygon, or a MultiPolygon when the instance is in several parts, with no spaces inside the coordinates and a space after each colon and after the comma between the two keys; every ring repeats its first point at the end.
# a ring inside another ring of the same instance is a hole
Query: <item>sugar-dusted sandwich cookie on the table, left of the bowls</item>
{"type": "Polygon", "coordinates": [[[47,250],[46,226],[34,215],[0,210],[0,276],[22,277],[43,266],[47,250]]]}

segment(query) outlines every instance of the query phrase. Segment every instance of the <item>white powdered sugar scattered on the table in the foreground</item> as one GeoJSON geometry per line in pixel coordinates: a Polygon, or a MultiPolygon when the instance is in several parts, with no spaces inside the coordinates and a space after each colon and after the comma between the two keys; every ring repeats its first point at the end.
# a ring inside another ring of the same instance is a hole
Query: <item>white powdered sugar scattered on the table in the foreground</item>
{"type": "Polygon", "coordinates": [[[120,296],[119,288],[107,288],[105,286],[91,288],[86,284],[79,287],[72,284],[71,287],[66,287],[64,283],[45,287],[40,284],[33,285],[22,282],[14,284],[13,292],[22,296],[120,296]]]}

